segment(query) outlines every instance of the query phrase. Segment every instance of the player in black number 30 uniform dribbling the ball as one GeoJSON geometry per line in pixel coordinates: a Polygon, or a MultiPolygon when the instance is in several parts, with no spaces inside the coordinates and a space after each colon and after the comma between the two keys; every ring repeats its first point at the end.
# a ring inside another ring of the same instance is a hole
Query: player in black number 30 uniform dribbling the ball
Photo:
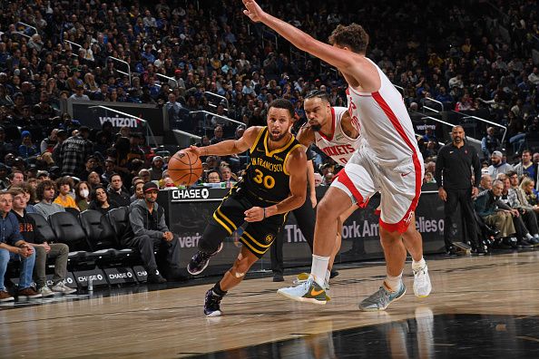
{"type": "MultiPolygon", "coordinates": [[[[204,314],[218,316],[220,300],[240,284],[250,267],[270,248],[289,210],[305,202],[307,156],[303,146],[289,133],[294,116],[292,103],[275,100],[268,109],[268,126],[250,127],[239,140],[221,141],[190,149],[197,156],[230,155],[250,150],[250,164],[218,209],[199,241],[197,252],[187,266],[191,275],[200,274],[222,241],[244,222],[240,254],[224,277],[206,293],[204,314]]],[[[243,226],[242,226],[243,227],[243,226]]]]}

